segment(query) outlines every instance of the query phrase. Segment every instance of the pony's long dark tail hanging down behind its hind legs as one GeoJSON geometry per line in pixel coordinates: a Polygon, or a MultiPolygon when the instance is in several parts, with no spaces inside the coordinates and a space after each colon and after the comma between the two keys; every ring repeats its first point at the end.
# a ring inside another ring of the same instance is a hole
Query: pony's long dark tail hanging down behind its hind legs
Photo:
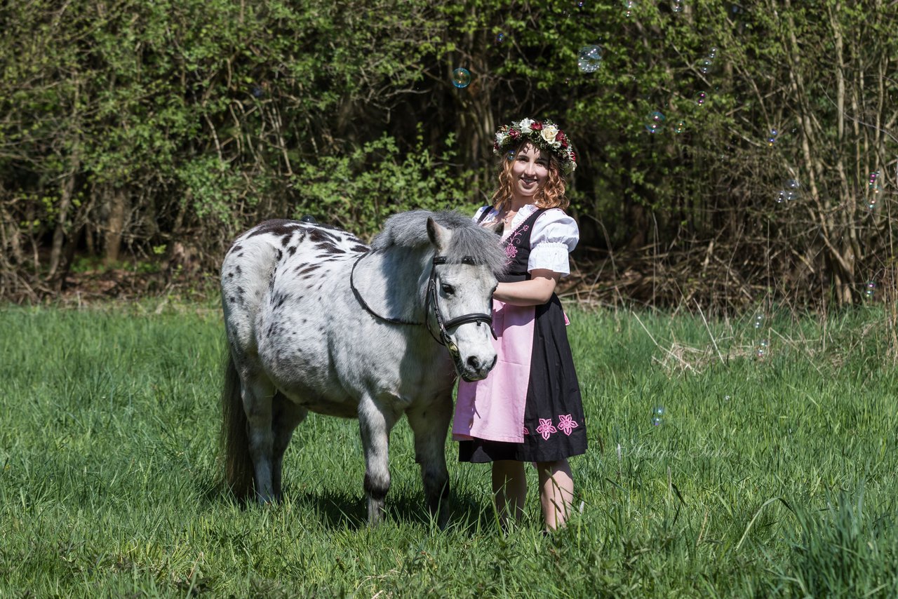
{"type": "Polygon", "coordinates": [[[222,389],[221,454],[225,459],[225,484],[240,500],[252,492],[252,460],[246,412],[240,393],[240,374],[231,351],[225,349],[225,386],[222,389]]]}

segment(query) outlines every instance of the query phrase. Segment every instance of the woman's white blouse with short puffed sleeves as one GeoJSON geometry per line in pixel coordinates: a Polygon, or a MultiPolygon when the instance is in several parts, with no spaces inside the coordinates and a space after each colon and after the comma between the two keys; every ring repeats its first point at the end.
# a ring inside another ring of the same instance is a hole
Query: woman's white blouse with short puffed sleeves
{"type": "MultiPolygon", "coordinates": [[[[502,233],[502,239],[515,231],[534,211],[539,208],[533,204],[525,204],[517,211],[511,225],[506,226],[502,233]]],[[[497,223],[499,213],[494,207],[481,207],[474,215],[477,221],[484,210],[489,214],[483,219],[482,225],[497,223]]],[[[561,275],[570,274],[570,262],[568,253],[574,251],[580,240],[580,229],[573,218],[566,215],[560,208],[550,208],[536,219],[533,231],[530,233],[530,259],[527,260],[527,272],[535,269],[548,269],[561,275]]]]}

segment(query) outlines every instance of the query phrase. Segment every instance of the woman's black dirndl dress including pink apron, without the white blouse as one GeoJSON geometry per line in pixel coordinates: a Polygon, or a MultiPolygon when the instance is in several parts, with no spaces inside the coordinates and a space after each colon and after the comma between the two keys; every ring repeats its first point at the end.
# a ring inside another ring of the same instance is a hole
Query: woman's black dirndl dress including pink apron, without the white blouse
{"type": "MultiPolygon", "coordinates": [[[[549,212],[531,209],[503,241],[508,262],[502,282],[530,279],[534,225],[549,212]]],[[[489,212],[482,208],[478,222],[489,212]]],[[[570,220],[559,209],[551,212],[550,218],[570,220]]],[[[563,259],[567,265],[567,253],[563,259]]],[[[555,294],[536,306],[493,300],[497,364],[481,381],[459,382],[453,439],[460,442],[460,462],[554,462],[585,453],[583,401],[567,322],[555,294]]]]}

